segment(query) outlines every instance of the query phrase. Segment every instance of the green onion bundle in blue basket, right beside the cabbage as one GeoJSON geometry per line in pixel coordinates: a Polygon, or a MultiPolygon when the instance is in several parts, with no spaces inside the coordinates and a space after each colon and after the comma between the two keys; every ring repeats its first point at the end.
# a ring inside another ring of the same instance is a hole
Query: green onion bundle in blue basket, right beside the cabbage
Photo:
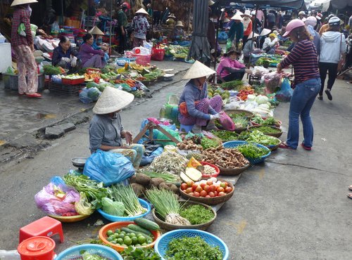
{"type": "Polygon", "coordinates": [[[111,197],[113,200],[122,202],[125,205],[127,216],[138,216],[146,212],[130,185],[116,184],[111,186],[111,197]]]}

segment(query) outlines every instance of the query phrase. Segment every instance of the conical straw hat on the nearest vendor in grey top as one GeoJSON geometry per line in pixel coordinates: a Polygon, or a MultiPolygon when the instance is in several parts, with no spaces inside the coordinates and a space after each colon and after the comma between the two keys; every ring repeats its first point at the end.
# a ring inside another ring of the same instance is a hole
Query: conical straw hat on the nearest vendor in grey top
{"type": "Polygon", "coordinates": [[[134,99],[131,93],[106,86],[98,101],[94,105],[93,112],[97,115],[108,114],[127,107],[134,99]]]}

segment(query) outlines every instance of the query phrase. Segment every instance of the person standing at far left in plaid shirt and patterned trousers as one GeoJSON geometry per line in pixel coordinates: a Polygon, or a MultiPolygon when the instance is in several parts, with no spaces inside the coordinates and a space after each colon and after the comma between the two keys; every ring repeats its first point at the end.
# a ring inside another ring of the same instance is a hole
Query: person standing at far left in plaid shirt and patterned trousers
{"type": "Polygon", "coordinates": [[[34,45],[32,32],[30,30],[31,3],[37,3],[37,1],[15,0],[11,4],[11,6],[15,6],[11,27],[11,46],[17,56],[18,94],[20,96],[25,95],[28,98],[41,98],[42,95],[37,93],[37,63],[35,63],[33,56],[34,45]],[[21,23],[25,25],[25,37],[18,34],[18,27],[21,23]],[[25,80],[26,75],[28,82],[25,80]]]}

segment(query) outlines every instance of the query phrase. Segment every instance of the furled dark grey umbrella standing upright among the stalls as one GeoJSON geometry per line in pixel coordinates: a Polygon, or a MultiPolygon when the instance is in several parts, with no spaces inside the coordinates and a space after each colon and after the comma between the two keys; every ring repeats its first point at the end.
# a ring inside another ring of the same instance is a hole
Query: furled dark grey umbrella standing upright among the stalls
{"type": "Polygon", "coordinates": [[[208,1],[194,0],[193,33],[188,57],[194,60],[210,59],[210,46],[208,43],[208,1]]]}

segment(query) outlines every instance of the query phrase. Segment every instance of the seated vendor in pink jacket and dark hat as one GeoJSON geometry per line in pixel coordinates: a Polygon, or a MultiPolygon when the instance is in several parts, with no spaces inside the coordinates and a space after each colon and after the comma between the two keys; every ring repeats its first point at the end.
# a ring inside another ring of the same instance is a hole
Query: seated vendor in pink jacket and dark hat
{"type": "Polygon", "coordinates": [[[241,52],[230,48],[220,60],[217,73],[225,82],[231,82],[232,80],[244,77],[244,68],[246,66],[237,60],[239,56],[241,56],[241,52]]]}

